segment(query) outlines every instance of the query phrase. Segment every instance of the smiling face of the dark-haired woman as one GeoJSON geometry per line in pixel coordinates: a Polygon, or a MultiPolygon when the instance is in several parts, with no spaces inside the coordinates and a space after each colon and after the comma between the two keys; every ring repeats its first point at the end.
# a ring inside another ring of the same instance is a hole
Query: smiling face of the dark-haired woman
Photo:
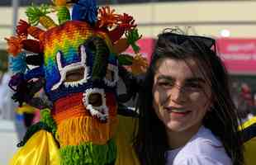
{"type": "Polygon", "coordinates": [[[153,106],[168,131],[199,129],[211,106],[211,87],[207,82],[193,59],[159,61],[154,75],[153,106]]]}

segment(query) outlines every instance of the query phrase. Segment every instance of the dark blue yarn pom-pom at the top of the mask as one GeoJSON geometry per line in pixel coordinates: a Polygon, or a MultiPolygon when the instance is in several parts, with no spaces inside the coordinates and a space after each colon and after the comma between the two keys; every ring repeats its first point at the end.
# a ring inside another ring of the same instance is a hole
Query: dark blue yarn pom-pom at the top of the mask
{"type": "Polygon", "coordinates": [[[72,20],[86,21],[94,25],[97,21],[97,4],[94,0],[79,0],[73,5],[72,20]]]}

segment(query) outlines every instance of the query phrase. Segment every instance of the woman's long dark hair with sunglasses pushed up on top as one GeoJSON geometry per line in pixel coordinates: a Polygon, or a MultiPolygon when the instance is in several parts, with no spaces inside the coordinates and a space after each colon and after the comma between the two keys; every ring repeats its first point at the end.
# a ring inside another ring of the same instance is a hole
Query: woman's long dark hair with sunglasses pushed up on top
{"type": "Polygon", "coordinates": [[[166,129],[154,112],[151,92],[159,61],[166,58],[185,62],[187,59],[194,59],[197,62],[198,68],[211,87],[211,111],[206,113],[203,125],[220,139],[234,165],[244,164],[239,116],[230,96],[228,74],[216,55],[215,40],[196,35],[179,35],[172,31],[164,31],[159,35],[137,101],[136,109],[140,111],[140,119],[134,145],[140,163],[166,163],[165,152],[169,149],[166,129]]]}

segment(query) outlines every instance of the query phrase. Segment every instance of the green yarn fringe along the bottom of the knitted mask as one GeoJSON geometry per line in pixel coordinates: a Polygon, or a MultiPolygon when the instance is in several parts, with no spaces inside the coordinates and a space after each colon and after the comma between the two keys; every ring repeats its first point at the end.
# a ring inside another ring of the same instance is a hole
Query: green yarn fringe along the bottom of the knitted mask
{"type": "Polygon", "coordinates": [[[116,144],[113,139],[105,145],[92,143],[66,146],[59,149],[61,165],[105,165],[116,159],[116,144]]]}

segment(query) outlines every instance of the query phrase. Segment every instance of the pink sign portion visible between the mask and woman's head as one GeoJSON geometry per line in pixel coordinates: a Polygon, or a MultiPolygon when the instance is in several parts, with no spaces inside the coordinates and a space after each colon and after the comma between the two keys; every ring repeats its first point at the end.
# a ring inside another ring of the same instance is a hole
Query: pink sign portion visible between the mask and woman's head
{"type": "MultiPolygon", "coordinates": [[[[140,46],[140,54],[150,61],[152,51],[154,49],[154,39],[143,38],[137,41],[137,45],[140,46]]],[[[125,53],[134,54],[134,51],[129,47],[125,53]]]]}

